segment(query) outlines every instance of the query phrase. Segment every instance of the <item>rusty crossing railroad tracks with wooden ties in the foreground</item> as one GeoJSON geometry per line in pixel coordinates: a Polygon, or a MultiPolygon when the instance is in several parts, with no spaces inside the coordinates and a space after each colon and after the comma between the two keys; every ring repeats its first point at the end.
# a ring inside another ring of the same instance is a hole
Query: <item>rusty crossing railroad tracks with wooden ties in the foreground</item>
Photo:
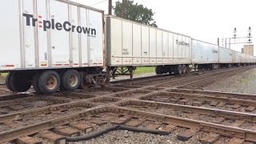
{"type": "MultiPolygon", "coordinates": [[[[237,70],[241,73],[251,68],[237,70]]],[[[237,74],[227,73],[230,71],[190,77],[189,82],[198,82],[195,87],[203,78],[237,74]]],[[[164,137],[178,130],[178,140],[188,142],[190,138],[206,143],[221,143],[223,138],[230,143],[256,142],[255,95],[182,90],[178,88],[184,86],[185,78],[180,82],[158,80],[153,85],[112,84],[47,97],[0,97],[0,142],[65,143],[88,140],[111,130],[164,137]],[[171,82],[177,83],[166,85],[171,82]]]]}

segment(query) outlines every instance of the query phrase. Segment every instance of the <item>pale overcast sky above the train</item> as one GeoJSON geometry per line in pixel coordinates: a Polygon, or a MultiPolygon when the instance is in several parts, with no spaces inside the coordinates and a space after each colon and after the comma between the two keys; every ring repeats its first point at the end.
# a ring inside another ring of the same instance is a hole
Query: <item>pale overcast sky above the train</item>
{"type": "MultiPolygon", "coordinates": [[[[92,6],[107,13],[108,0],[71,0],[92,6]],[[101,2],[101,3],[98,3],[101,2]],[[98,4],[96,4],[98,3],[98,4]],[[94,5],[96,4],[96,5],[94,5]]],[[[113,0],[113,6],[118,0],[113,0]]],[[[256,28],[254,0],[134,0],[154,11],[158,27],[192,38],[217,44],[217,38],[230,38],[234,27],[238,37],[248,34],[248,27],[256,28]]],[[[253,38],[253,42],[256,39],[253,38]]],[[[220,42],[222,45],[222,42],[220,42]]],[[[231,46],[241,51],[241,45],[231,46]]],[[[256,50],[254,50],[254,55],[256,50]]]]}

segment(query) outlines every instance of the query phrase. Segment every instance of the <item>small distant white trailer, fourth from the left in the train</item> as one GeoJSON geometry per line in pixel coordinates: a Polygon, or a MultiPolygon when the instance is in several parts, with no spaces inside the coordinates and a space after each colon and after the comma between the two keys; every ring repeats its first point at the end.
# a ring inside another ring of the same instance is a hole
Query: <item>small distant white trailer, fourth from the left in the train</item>
{"type": "Polygon", "coordinates": [[[233,50],[219,46],[218,64],[220,67],[232,67],[233,50]]]}

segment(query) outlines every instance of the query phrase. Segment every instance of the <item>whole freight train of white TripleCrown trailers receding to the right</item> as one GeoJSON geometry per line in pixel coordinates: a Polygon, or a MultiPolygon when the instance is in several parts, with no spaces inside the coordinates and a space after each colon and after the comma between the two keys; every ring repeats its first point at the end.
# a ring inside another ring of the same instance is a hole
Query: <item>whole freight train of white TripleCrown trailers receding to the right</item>
{"type": "Polygon", "coordinates": [[[4,0],[0,5],[0,72],[6,86],[42,94],[105,85],[110,71],[156,66],[156,74],[246,66],[256,58],[184,34],[105,15],[66,0],[4,0]]]}

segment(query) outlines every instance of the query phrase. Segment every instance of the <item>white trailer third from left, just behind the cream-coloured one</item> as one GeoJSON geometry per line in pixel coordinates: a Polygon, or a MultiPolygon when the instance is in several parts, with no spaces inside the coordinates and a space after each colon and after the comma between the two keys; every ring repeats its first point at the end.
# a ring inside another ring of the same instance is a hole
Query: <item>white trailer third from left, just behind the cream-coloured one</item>
{"type": "Polygon", "coordinates": [[[198,70],[218,69],[218,45],[192,38],[192,63],[198,70]]]}

